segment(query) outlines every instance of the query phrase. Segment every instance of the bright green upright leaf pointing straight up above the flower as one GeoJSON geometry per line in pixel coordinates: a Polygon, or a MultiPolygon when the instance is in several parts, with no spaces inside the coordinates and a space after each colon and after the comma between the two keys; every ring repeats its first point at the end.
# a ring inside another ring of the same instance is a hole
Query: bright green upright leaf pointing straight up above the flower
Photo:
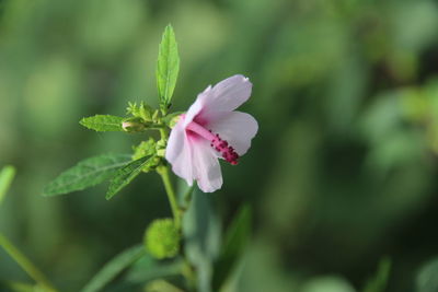
{"type": "Polygon", "coordinates": [[[175,34],[169,24],[163,33],[157,62],[157,87],[160,97],[160,108],[164,114],[170,106],[178,71],[180,57],[175,34]]]}

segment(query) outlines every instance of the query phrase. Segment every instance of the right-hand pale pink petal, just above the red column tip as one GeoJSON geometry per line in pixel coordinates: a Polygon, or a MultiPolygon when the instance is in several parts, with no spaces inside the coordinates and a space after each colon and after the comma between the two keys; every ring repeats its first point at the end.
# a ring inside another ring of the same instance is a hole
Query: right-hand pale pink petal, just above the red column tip
{"type": "Polygon", "coordinates": [[[251,147],[251,139],[258,130],[255,118],[241,112],[217,114],[207,127],[227,140],[239,155],[246,153],[251,147]]]}

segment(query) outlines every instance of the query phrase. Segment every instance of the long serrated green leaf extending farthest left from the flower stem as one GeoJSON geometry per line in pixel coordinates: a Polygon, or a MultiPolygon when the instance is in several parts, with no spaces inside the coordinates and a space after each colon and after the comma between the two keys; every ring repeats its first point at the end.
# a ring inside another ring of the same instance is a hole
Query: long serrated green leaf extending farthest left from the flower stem
{"type": "Polygon", "coordinates": [[[44,196],[62,195],[95,186],[110,179],[130,162],[127,154],[104,154],[79,162],[61,173],[44,189],[44,196]]]}

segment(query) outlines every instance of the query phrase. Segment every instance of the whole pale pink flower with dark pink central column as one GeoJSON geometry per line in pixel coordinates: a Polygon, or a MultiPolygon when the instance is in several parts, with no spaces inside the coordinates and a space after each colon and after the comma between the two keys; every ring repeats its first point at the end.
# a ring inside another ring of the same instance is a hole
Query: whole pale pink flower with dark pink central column
{"type": "Polygon", "coordinates": [[[251,95],[252,83],[243,75],[230,77],[198,94],[169,138],[165,159],[188,185],[211,192],[222,186],[218,159],[235,165],[251,147],[257,121],[234,110],[251,95]]]}

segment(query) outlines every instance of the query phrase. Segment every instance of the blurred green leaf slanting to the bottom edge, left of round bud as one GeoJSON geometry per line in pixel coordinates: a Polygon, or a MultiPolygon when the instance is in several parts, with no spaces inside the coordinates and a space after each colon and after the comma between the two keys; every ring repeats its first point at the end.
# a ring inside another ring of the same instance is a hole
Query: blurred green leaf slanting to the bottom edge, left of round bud
{"type": "Polygon", "coordinates": [[[82,289],[82,292],[101,291],[114,278],[116,278],[124,269],[131,266],[146,254],[142,245],[130,247],[118,254],[110,260],[103,268],[90,280],[82,289]]]}

